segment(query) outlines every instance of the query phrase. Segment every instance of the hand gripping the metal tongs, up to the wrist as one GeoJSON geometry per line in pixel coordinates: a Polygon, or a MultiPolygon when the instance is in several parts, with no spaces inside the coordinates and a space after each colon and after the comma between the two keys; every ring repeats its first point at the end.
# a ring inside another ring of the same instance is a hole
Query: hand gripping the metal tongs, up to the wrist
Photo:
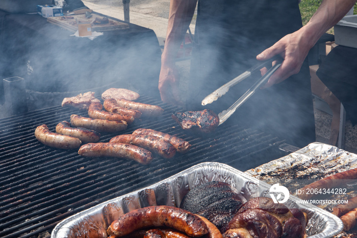
{"type": "MultiPolygon", "coordinates": [[[[274,72],[262,88],[283,82],[290,76],[299,73],[301,65],[310,49],[310,43],[304,39],[300,29],[299,31],[284,36],[273,46],[260,53],[257,56],[257,60],[267,60],[275,55],[281,55],[284,58],[282,65],[274,72]]],[[[266,69],[263,69],[262,73],[266,73],[266,69]]]]}

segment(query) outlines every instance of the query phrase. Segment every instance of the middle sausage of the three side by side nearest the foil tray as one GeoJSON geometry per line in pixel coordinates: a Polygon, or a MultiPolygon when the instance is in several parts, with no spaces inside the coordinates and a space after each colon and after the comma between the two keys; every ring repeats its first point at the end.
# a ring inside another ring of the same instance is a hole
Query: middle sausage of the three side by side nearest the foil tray
{"type": "Polygon", "coordinates": [[[117,135],[111,138],[109,142],[119,142],[139,146],[151,152],[158,153],[160,156],[167,159],[172,158],[176,153],[175,148],[165,140],[149,135],[117,135]]]}

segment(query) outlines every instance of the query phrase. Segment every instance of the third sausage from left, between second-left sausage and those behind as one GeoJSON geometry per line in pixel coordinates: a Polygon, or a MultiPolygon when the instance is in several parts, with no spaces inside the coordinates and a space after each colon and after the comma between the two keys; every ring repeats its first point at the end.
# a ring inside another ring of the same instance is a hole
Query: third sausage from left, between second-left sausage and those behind
{"type": "Polygon", "coordinates": [[[74,127],[84,127],[98,132],[119,132],[125,130],[127,127],[127,123],[124,121],[92,119],[75,114],[71,115],[71,124],[74,127]]]}

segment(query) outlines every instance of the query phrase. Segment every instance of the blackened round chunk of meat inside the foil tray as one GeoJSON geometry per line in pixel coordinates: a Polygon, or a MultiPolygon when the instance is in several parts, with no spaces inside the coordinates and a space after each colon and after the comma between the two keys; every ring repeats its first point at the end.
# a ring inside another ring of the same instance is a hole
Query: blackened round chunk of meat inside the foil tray
{"type": "Polygon", "coordinates": [[[245,202],[231,185],[213,181],[191,189],[180,208],[207,218],[222,232],[245,202]]]}

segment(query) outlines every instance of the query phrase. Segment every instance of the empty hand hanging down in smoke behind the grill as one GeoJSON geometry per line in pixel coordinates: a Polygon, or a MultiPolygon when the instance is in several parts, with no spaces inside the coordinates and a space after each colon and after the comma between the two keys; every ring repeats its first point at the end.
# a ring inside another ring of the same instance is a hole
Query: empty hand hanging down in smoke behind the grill
{"type": "Polygon", "coordinates": [[[183,105],[179,92],[180,77],[174,65],[161,66],[159,76],[159,90],[164,103],[183,105]]]}

